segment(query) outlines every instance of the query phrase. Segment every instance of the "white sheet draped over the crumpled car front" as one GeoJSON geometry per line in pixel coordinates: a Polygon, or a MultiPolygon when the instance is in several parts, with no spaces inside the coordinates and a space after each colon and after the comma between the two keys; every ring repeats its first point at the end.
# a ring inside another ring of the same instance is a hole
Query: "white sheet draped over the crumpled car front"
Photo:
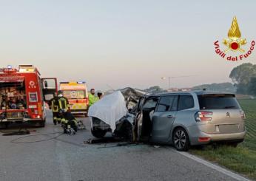
{"type": "MultiPolygon", "coordinates": [[[[113,92],[98,100],[88,111],[88,116],[97,117],[110,125],[112,132],[115,130],[115,122],[127,114],[124,96],[120,91],[113,92]]],[[[92,125],[92,119],[90,119],[92,125]]]]}

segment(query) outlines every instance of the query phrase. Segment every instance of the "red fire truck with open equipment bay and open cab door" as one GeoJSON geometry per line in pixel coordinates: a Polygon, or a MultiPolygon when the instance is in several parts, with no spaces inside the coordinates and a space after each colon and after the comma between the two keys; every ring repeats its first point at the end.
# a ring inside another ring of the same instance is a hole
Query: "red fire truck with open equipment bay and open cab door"
{"type": "Polygon", "coordinates": [[[0,126],[30,122],[44,127],[44,101],[53,98],[57,86],[56,78],[41,78],[32,65],[0,69],[0,126]]]}

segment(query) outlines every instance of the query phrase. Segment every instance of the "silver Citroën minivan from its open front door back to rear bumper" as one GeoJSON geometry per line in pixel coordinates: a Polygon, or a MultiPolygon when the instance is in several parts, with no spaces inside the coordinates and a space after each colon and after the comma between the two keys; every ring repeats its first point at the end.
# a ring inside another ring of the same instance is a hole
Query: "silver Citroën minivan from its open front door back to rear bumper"
{"type": "Polygon", "coordinates": [[[141,97],[127,114],[133,139],[175,146],[226,143],[237,146],[245,135],[245,115],[235,95],[216,92],[173,92],[141,97]]]}

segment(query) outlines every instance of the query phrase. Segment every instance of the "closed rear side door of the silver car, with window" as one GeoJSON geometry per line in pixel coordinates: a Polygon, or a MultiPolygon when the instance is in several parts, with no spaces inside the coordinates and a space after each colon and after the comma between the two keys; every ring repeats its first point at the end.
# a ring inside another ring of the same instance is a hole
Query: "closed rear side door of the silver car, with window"
{"type": "Polygon", "coordinates": [[[166,143],[169,140],[172,123],[177,113],[178,95],[162,96],[152,115],[153,142],[166,143]]]}

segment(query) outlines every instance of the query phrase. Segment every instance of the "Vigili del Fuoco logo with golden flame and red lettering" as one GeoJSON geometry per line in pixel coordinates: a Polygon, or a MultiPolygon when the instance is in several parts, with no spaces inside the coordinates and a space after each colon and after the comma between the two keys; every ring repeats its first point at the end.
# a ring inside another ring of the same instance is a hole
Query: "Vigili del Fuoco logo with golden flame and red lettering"
{"type": "Polygon", "coordinates": [[[227,61],[242,61],[244,58],[249,58],[255,48],[255,41],[253,40],[249,44],[250,48],[247,50],[244,49],[244,45],[246,45],[247,42],[246,38],[241,36],[236,17],[233,18],[228,32],[228,38],[224,38],[222,43],[226,49],[220,49],[220,42],[215,41],[215,52],[227,61]],[[236,56],[229,55],[230,52],[238,52],[239,54],[236,56]]]}

